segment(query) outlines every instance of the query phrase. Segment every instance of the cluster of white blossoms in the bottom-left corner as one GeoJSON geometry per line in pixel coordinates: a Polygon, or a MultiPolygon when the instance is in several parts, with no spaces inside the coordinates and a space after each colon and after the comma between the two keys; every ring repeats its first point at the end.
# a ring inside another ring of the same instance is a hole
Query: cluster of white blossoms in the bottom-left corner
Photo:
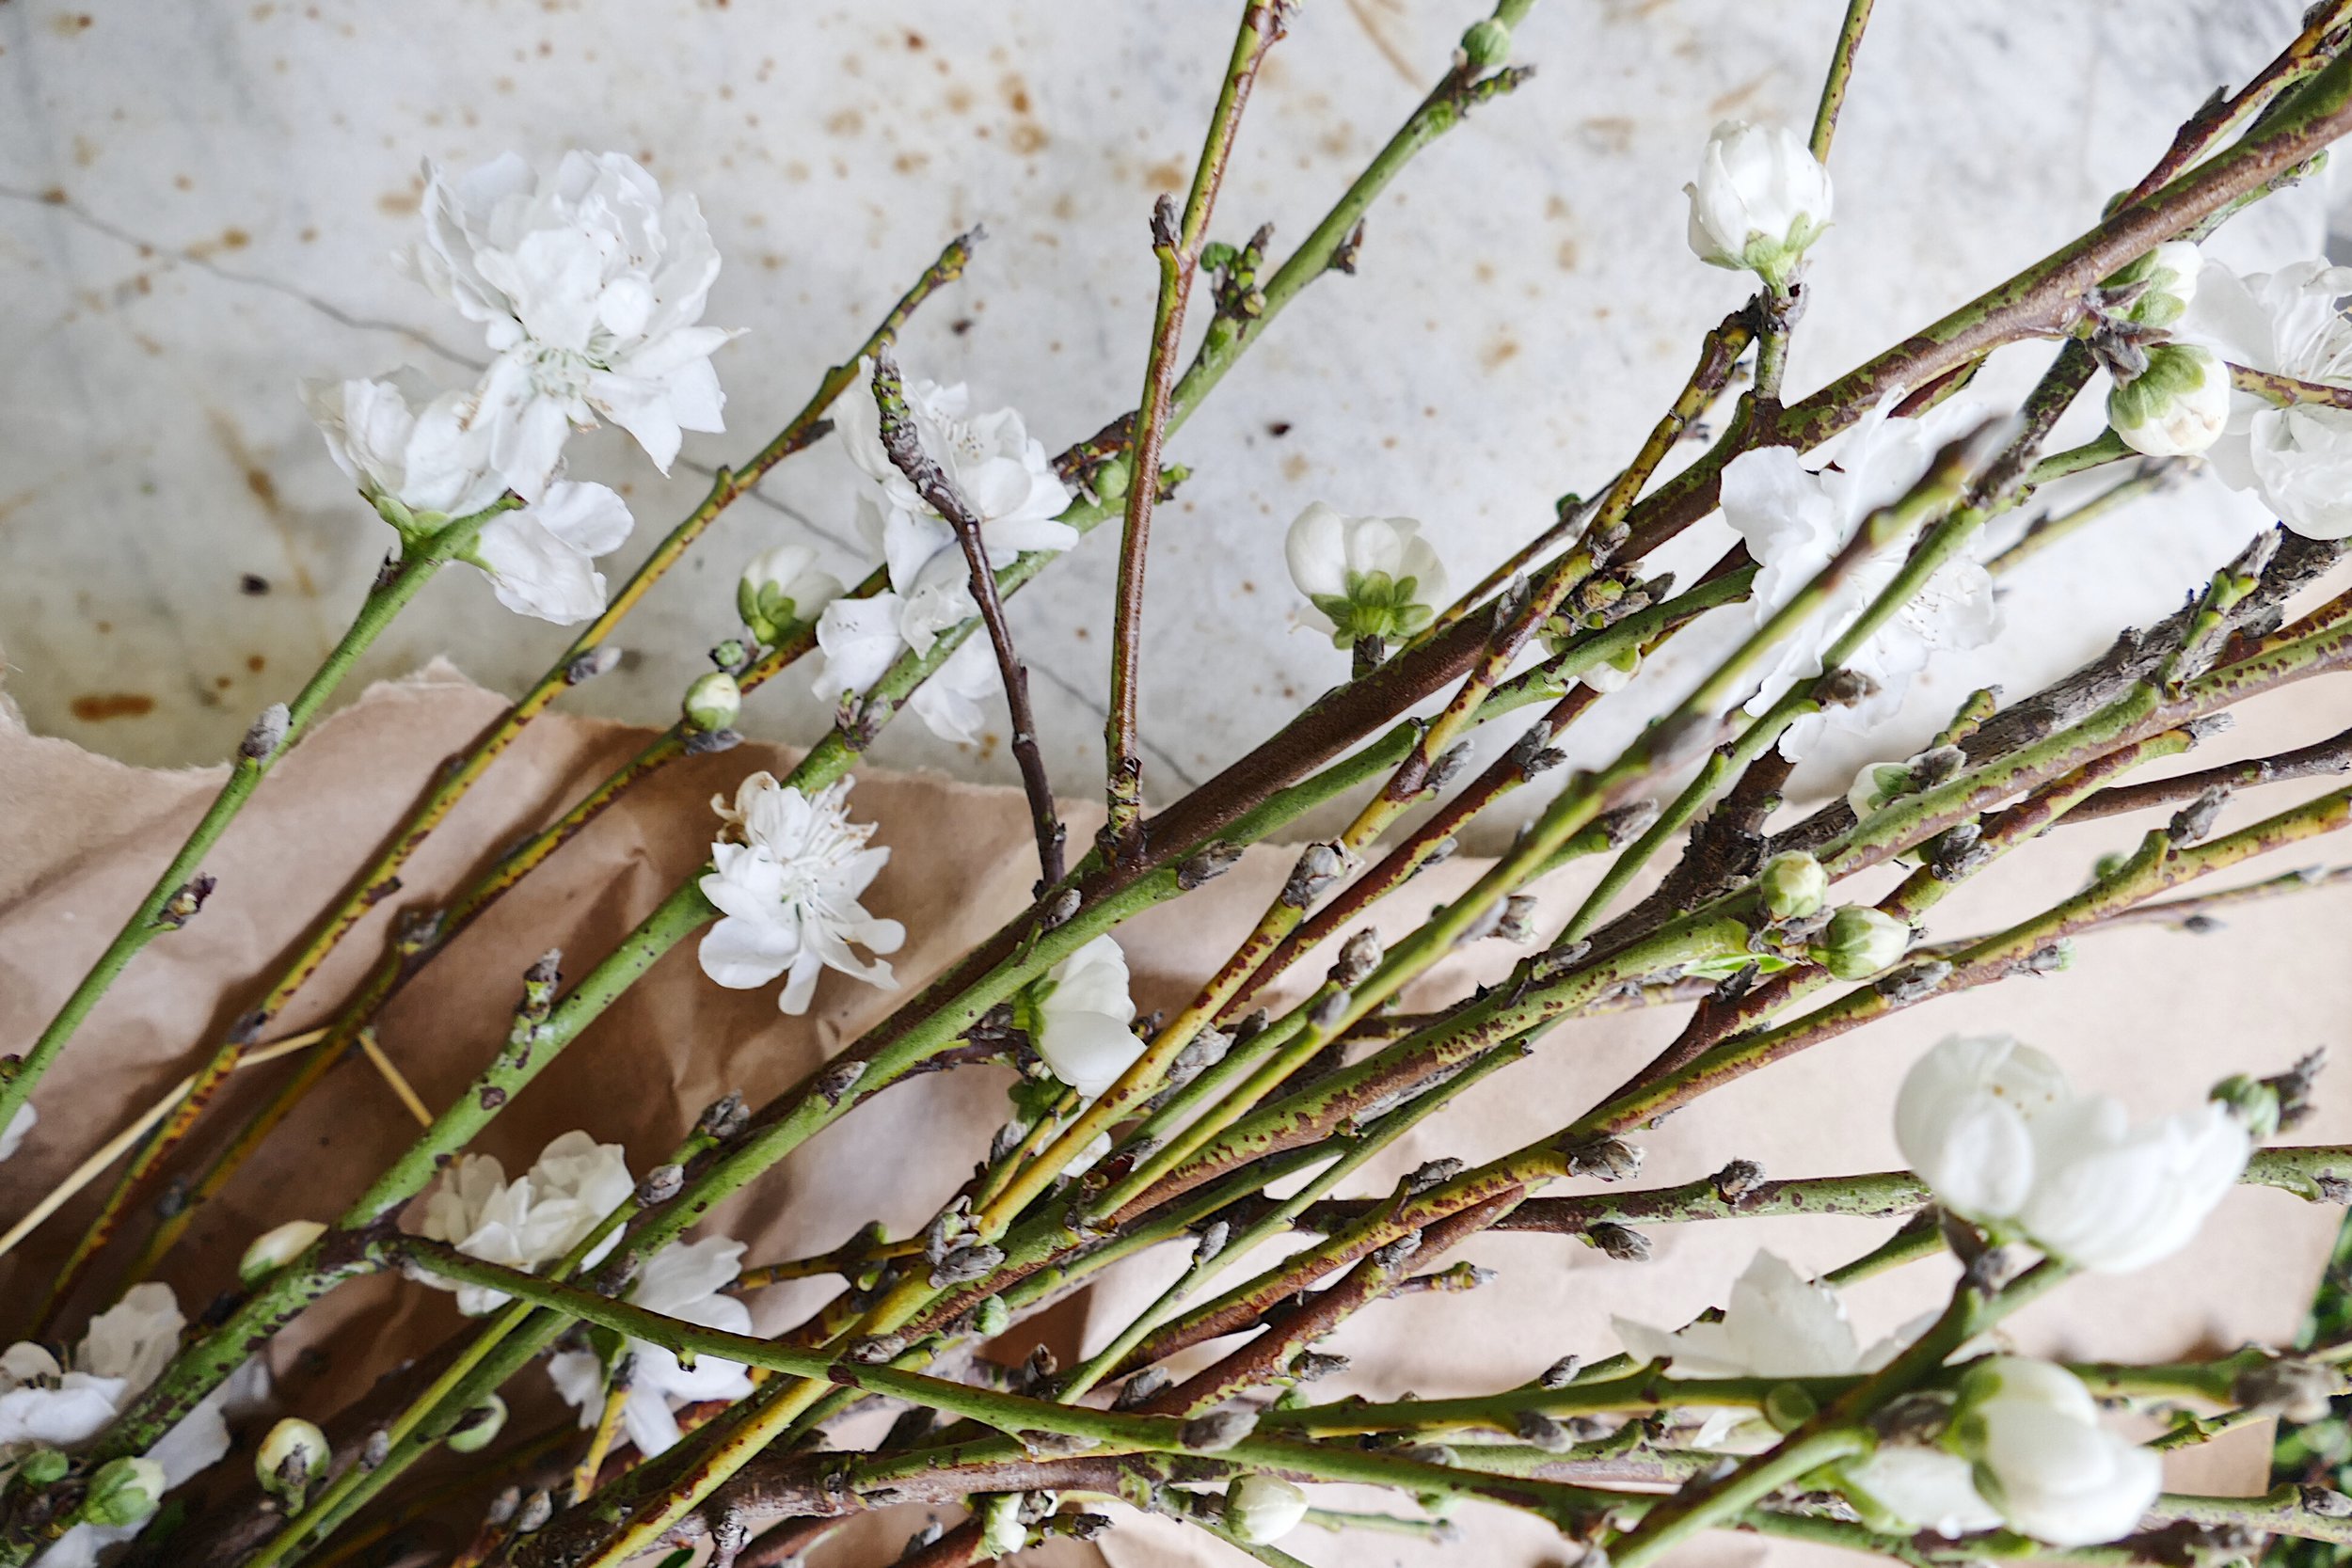
{"type": "MultiPolygon", "coordinates": [[[[146,1392],[179,1352],[188,1319],[172,1286],[141,1284],[89,1319],[82,1342],[64,1361],[47,1347],[19,1340],[0,1349],[0,1483],[40,1455],[71,1453],[94,1439],[146,1392]]],[[[165,1490],[228,1455],[228,1413],[259,1403],[268,1373],[249,1361],[183,1415],[136,1460],[106,1465],[92,1493],[108,1493],[96,1519],[75,1523],[35,1561],[35,1568],[92,1568],[99,1554],[139,1533],[165,1490]],[[108,1476],[108,1472],[115,1472],[108,1476]]]]}

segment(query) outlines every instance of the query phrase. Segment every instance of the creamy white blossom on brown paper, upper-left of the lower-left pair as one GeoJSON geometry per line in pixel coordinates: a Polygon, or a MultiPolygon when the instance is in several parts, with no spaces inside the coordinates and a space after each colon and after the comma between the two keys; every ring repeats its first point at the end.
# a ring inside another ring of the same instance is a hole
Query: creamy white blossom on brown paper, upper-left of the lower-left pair
{"type": "MultiPolygon", "coordinates": [[[[572,1131],[541,1150],[515,1180],[506,1180],[496,1154],[466,1154],[426,1199],[419,1229],[468,1258],[536,1274],[579,1246],[635,1185],[619,1143],[572,1131]]],[[[604,1237],[586,1262],[600,1262],[619,1241],[621,1232],[604,1237]]],[[[437,1279],[428,1284],[452,1288],[437,1279]]],[[[492,1286],[454,1288],[456,1309],[466,1316],[482,1316],[510,1300],[492,1286]]]]}

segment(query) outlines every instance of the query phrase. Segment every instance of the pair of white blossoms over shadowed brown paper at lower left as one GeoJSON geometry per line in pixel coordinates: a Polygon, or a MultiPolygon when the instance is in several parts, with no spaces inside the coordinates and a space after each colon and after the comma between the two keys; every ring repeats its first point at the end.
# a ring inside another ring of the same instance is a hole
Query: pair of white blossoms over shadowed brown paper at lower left
{"type": "MultiPolygon", "coordinates": [[[[588,1232],[635,1190],[637,1180],[628,1173],[621,1145],[574,1131],[541,1150],[532,1168],[515,1180],[506,1180],[506,1168],[492,1154],[466,1154],[426,1197],[419,1232],[447,1241],[468,1258],[536,1274],[586,1241],[588,1232]]],[[[581,1267],[600,1262],[619,1241],[621,1232],[614,1229],[588,1251],[581,1267]]],[[[750,1333],[750,1309],[722,1295],[741,1262],[741,1241],[724,1237],[670,1241],[637,1272],[628,1300],[703,1328],[750,1333]]],[[[489,1286],[452,1286],[430,1274],[423,1281],[454,1288],[459,1312],[468,1316],[513,1300],[489,1286]]],[[[691,1366],[682,1366],[668,1349],[640,1340],[623,1342],[612,1363],[586,1349],[567,1349],[548,1361],[548,1378],[557,1394],[579,1406],[583,1427],[595,1425],[604,1410],[604,1387],[621,1368],[621,1359],[628,1359],[621,1422],[647,1458],[677,1441],[673,1403],[750,1394],[743,1366],[717,1356],[699,1356],[691,1366]]]]}

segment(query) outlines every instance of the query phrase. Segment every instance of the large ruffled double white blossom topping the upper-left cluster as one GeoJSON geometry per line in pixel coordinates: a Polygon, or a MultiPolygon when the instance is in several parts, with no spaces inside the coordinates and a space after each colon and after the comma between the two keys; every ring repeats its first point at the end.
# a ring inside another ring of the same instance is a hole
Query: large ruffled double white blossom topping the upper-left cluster
{"type": "Polygon", "coordinates": [[[492,470],[536,501],[564,440],[597,418],[637,437],[663,473],[682,430],[724,430],[701,327],[720,254],[691,195],[621,153],[564,153],[541,179],[506,153],[468,174],[426,165],[426,237],[402,261],[482,322],[496,353],[470,425],[492,470]]]}

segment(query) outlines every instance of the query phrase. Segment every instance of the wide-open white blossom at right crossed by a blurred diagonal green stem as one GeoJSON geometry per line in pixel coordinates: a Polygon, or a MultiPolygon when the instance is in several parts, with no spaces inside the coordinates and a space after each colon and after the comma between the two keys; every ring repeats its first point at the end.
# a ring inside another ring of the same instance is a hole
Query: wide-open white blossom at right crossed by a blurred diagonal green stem
{"type": "MultiPolygon", "coordinates": [[[[1724,522],[1740,534],[1757,562],[1752,592],[1757,625],[1795,599],[1872,510],[1917,484],[1936,449],[1971,418],[1966,409],[1896,418],[1898,397],[1889,393],[1867,411],[1823,468],[1806,468],[1790,447],[1757,447],[1724,465],[1724,522]]],[[[1750,712],[1764,712],[1790,686],[1820,675],[1823,649],[1893,581],[1905,552],[1907,541],[1875,550],[1844,576],[1830,602],[1769,656],[1778,663],[1766,672],[1748,705],[1750,712]]],[[[1867,675],[1877,689],[1851,708],[1799,717],[1783,731],[1780,755],[1802,757],[1823,722],[1858,731],[1884,724],[1936,651],[1973,649],[1999,630],[2002,611],[1992,599],[1992,578],[1964,548],[1846,661],[1849,670],[1867,675]]]]}

